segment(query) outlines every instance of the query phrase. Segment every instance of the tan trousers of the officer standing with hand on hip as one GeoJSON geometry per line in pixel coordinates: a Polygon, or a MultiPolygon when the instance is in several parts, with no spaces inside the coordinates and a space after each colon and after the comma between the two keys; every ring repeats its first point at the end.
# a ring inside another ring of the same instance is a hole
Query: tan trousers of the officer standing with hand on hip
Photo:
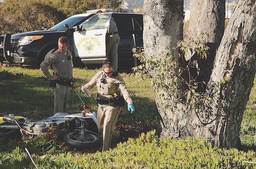
{"type": "Polygon", "coordinates": [[[68,97],[70,95],[69,85],[56,84],[54,88],[54,113],[65,112],[68,104],[68,97]]]}

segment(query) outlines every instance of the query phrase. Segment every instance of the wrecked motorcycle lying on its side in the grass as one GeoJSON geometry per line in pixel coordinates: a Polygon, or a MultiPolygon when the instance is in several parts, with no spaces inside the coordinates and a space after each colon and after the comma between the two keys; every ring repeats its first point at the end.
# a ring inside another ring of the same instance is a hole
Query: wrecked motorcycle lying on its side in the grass
{"type": "Polygon", "coordinates": [[[34,122],[22,116],[4,115],[0,117],[0,138],[14,138],[19,135],[23,140],[31,139],[47,132],[52,126],[67,131],[63,141],[71,147],[87,149],[99,145],[97,115],[88,104],[80,107],[80,113],[56,113],[47,119],[34,122]]]}

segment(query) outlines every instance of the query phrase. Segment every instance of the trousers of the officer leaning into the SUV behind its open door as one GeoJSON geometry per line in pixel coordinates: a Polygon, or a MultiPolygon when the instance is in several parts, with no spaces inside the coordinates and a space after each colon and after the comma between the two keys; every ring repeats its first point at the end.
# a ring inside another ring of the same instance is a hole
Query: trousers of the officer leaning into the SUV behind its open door
{"type": "Polygon", "coordinates": [[[106,55],[107,59],[111,62],[113,70],[117,71],[118,68],[118,44],[120,37],[118,34],[108,36],[108,42],[106,43],[106,55]]]}

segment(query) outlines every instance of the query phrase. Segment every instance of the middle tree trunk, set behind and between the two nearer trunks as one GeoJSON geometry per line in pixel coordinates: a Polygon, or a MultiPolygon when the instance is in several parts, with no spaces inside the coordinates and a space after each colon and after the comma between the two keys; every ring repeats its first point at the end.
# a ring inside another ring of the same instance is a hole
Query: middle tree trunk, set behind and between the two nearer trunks
{"type": "Polygon", "coordinates": [[[225,26],[225,0],[190,0],[190,36],[208,34],[206,45],[210,48],[206,60],[198,60],[200,76],[198,81],[210,80],[216,49],[224,34],[225,26]]]}

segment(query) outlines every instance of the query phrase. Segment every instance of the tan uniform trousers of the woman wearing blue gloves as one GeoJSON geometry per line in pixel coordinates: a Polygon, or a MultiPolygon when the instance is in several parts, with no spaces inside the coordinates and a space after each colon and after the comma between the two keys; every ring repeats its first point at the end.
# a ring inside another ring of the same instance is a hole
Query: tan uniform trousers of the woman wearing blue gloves
{"type": "Polygon", "coordinates": [[[116,141],[120,136],[120,132],[114,130],[118,114],[120,113],[121,107],[114,106],[113,103],[109,105],[99,105],[97,119],[98,129],[103,130],[103,147],[102,151],[106,151],[110,148],[111,141],[116,141]],[[103,108],[103,111],[101,107],[103,108]]]}

